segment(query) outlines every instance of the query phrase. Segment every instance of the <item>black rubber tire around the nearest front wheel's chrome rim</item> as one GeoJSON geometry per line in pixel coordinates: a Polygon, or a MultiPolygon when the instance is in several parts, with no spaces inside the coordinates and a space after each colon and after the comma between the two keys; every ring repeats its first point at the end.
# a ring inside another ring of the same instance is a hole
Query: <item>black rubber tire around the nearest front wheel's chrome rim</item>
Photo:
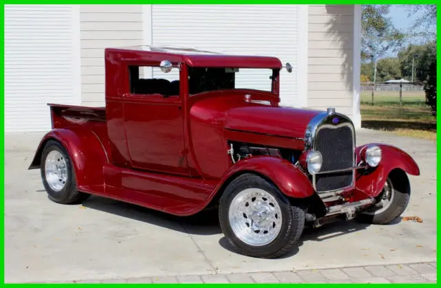
{"type": "Polygon", "coordinates": [[[225,188],[220,198],[219,221],[225,237],[240,254],[258,258],[277,258],[289,252],[296,243],[305,228],[305,212],[299,207],[292,206],[287,197],[269,181],[254,174],[243,174],[234,179],[225,188]],[[234,233],[229,223],[229,208],[239,192],[247,188],[260,188],[272,195],[278,203],[282,214],[280,232],[276,238],[267,245],[249,245],[240,240],[234,233]]]}

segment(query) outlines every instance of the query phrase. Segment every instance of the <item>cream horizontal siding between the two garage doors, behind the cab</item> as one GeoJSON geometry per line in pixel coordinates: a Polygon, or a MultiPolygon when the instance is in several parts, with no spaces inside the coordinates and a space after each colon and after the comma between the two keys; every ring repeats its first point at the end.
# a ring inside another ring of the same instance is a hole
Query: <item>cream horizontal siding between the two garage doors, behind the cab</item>
{"type": "Polygon", "coordinates": [[[103,106],[104,49],[143,44],[142,5],[81,5],[82,104],[103,106]]]}

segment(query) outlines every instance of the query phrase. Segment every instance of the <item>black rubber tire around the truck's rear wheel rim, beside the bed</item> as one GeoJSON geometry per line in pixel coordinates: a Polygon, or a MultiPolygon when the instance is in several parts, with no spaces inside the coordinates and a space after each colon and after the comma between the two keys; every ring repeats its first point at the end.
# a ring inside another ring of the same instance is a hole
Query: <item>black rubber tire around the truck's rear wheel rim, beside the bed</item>
{"type": "Polygon", "coordinates": [[[43,153],[41,155],[40,171],[43,186],[46,192],[48,192],[48,198],[51,201],[60,204],[76,204],[81,203],[81,201],[84,201],[90,197],[90,194],[79,192],[78,190],[76,190],[76,175],[75,170],[72,166],[72,160],[70,159],[69,154],[65,150],[63,145],[61,145],[59,142],[50,140],[45,145],[43,153]],[[61,153],[66,163],[67,179],[65,181],[64,187],[59,191],[54,190],[50,187],[45,176],[45,162],[51,151],[58,151],[59,153],[61,153]]]}

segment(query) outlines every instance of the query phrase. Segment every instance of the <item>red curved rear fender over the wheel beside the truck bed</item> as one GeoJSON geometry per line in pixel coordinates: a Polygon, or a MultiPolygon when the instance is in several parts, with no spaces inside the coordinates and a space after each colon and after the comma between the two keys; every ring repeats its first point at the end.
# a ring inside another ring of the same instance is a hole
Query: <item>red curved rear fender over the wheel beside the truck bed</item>
{"type": "Polygon", "coordinates": [[[53,129],[43,136],[29,169],[40,168],[41,155],[49,140],[56,140],[68,151],[75,169],[78,188],[103,185],[103,165],[107,153],[99,138],[90,130],[81,128],[53,129]]]}

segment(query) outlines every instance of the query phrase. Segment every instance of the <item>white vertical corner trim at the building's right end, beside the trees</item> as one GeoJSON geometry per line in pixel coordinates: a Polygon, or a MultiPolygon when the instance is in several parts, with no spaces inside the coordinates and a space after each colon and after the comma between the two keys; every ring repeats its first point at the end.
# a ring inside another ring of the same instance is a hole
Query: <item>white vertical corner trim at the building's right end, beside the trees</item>
{"type": "Polygon", "coordinates": [[[361,5],[353,5],[353,124],[361,128],[360,114],[360,66],[361,66],[361,5]]]}

